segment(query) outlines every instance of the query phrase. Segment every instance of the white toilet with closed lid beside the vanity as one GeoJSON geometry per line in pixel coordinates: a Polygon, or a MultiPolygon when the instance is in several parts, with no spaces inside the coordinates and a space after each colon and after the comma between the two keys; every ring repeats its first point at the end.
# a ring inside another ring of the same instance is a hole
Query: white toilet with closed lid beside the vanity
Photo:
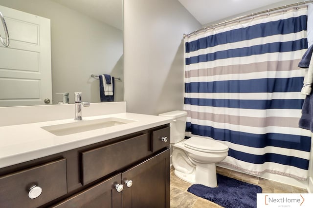
{"type": "Polygon", "coordinates": [[[185,138],[185,111],[161,113],[159,116],[172,117],[171,148],[174,173],[179,178],[192,184],[217,187],[215,163],[227,156],[228,147],[210,138],[185,138]]]}

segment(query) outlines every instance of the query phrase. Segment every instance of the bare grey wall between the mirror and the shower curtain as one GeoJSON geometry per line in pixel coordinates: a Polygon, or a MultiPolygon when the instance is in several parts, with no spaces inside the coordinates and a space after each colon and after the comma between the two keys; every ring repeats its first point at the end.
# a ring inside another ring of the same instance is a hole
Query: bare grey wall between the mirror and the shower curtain
{"type": "Polygon", "coordinates": [[[178,0],[124,0],[124,100],[131,113],[183,108],[183,34],[201,24],[178,0]]]}

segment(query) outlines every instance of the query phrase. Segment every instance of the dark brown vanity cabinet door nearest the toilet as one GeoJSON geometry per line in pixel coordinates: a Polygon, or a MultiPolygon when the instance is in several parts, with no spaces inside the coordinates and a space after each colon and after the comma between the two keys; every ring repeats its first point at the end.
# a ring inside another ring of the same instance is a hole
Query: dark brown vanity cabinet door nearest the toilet
{"type": "Polygon", "coordinates": [[[170,208],[170,150],[123,172],[122,182],[123,208],[170,208]]]}

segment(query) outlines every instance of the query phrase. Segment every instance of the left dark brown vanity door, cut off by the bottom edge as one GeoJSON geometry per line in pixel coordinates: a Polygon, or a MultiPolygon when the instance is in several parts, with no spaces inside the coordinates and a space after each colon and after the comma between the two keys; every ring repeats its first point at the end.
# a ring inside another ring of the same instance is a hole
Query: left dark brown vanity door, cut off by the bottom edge
{"type": "Polygon", "coordinates": [[[121,173],[77,193],[52,207],[122,208],[122,192],[117,192],[115,189],[116,184],[121,184],[121,173]]]}

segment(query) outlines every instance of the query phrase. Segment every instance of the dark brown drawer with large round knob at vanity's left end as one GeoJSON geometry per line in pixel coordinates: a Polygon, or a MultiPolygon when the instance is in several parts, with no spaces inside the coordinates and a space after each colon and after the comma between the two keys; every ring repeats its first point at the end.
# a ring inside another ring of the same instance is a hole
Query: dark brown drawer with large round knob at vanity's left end
{"type": "Polygon", "coordinates": [[[39,207],[66,193],[66,159],[0,176],[1,208],[39,207]],[[40,193],[39,187],[41,194],[31,199],[40,193]]]}

